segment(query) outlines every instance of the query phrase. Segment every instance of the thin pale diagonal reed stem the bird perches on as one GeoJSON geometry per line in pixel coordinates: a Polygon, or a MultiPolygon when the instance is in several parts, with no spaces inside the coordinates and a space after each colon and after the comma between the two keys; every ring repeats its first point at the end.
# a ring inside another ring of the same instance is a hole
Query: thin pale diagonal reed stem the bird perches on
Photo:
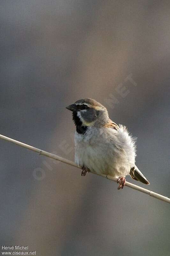
{"type": "MultiPolygon", "coordinates": [[[[70,161],[70,160],[68,160],[68,159],[65,159],[65,158],[63,158],[63,157],[61,157],[61,156],[57,156],[57,155],[51,154],[51,153],[49,153],[49,152],[47,152],[47,151],[44,151],[44,150],[41,150],[41,149],[39,149],[39,148],[32,147],[32,146],[27,145],[27,144],[25,144],[25,143],[22,143],[22,142],[20,142],[20,141],[18,141],[18,140],[13,140],[13,139],[11,139],[11,138],[9,138],[9,137],[6,137],[6,136],[4,136],[4,135],[1,135],[1,134],[0,134],[0,139],[9,141],[9,142],[14,143],[14,144],[16,144],[16,145],[18,145],[18,146],[21,146],[21,147],[23,147],[23,148],[27,148],[27,149],[30,149],[30,150],[32,150],[32,151],[34,151],[34,152],[37,152],[37,153],[39,153],[40,155],[53,158],[53,159],[55,159],[55,160],[57,160],[57,161],[63,162],[63,163],[65,163],[65,164],[70,164],[70,165],[72,165],[72,166],[74,166],[74,167],[77,167],[77,168],[81,169],[81,168],[80,168],[75,162],[73,162],[73,161],[70,161]]],[[[109,179],[109,180],[113,180],[113,181],[117,182],[117,178],[112,177],[111,175],[107,175],[107,176],[106,176],[106,175],[102,175],[102,174],[101,174],[100,176],[105,177],[105,178],[107,178],[107,179],[109,179]]],[[[137,185],[135,185],[135,184],[132,184],[132,183],[130,183],[130,182],[127,182],[127,181],[126,181],[125,186],[127,186],[127,187],[129,187],[129,188],[136,189],[136,190],[138,190],[138,191],[140,191],[140,192],[143,192],[143,193],[145,193],[145,194],[147,194],[147,195],[149,195],[149,196],[155,197],[155,198],[157,198],[157,199],[159,199],[159,200],[162,200],[162,201],[164,201],[164,202],[166,202],[166,203],[170,203],[170,198],[168,198],[168,197],[166,197],[166,196],[162,196],[162,195],[160,195],[160,194],[158,194],[158,193],[155,193],[155,192],[153,192],[153,191],[150,191],[150,190],[148,190],[148,189],[139,187],[139,186],[137,186],[137,185]]]]}

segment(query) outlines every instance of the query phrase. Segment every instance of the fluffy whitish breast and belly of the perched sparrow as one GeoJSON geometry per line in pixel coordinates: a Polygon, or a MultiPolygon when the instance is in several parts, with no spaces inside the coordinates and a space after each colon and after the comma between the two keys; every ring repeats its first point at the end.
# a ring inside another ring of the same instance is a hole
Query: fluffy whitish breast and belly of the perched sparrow
{"type": "Polygon", "coordinates": [[[98,174],[126,176],[135,164],[134,142],[122,126],[118,131],[88,128],[85,135],[76,132],[75,162],[98,174]]]}

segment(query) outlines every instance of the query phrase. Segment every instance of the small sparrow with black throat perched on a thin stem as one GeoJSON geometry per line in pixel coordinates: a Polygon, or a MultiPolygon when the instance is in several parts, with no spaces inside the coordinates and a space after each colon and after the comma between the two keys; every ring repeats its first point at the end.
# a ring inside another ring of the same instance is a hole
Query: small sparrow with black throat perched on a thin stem
{"type": "Polygon", "coordinates": [[[75,132],[75,162],[87,172],[118,178],[118,189],[125,177],[150,184],[135,165],[136,145],[126,126],[115,124],[107,109],[96,100],[85,98],[66,107],[72,111],[75,132]]]}

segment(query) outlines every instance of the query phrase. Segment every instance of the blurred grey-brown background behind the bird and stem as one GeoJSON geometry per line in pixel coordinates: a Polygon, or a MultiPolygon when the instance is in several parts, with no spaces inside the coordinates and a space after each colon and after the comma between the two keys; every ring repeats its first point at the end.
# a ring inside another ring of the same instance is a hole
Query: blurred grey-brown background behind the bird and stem
{"type": "MultiPolygon", "coordinates": [[[[0,3],[0,133],[74,160],[71,113],[91,97],[137,139],[137,166],[170,197],[170,2],[0,3]]],[[[170,208],[0,140],[0,243],[41,256],[170,254],[170,208]]]]}

